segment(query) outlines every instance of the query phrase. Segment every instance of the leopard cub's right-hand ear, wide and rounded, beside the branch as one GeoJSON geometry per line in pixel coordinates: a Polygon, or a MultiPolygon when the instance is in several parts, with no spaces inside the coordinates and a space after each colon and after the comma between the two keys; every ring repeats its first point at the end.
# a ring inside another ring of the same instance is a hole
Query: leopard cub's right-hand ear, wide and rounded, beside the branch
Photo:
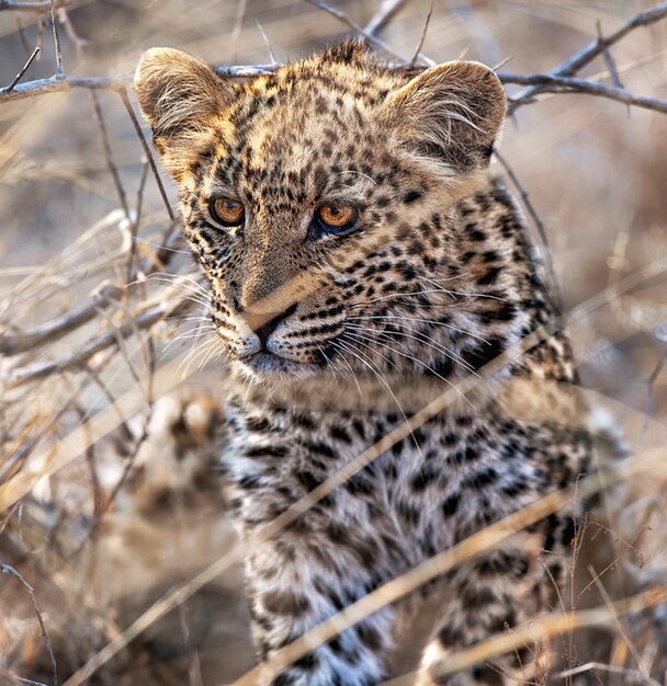
{"type": "Polygon", "coordinates": [[[488,165],[507,101],[491,69],[451,61],[415,77],[394,93],[387,107],[409,148],[465,172],[488,165]]]}

